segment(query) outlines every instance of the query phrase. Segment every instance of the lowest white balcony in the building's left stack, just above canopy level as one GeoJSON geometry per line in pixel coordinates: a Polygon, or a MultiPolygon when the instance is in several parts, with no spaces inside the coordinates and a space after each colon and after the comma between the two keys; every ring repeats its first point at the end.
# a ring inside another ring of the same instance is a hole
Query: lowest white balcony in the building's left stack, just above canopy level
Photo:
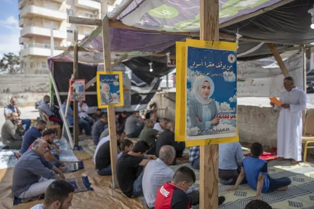
{"type": "MultiPolygon", "coordinates": [[[[57,45],[56,45],[57,46],[57,45]]],[[[55,50],[54,55],[62,53],[62,50],[55,50]]],[[[36,44],[36,43],[29,43],[26,44],[24,49],[21,50],[20,56],[51,56],[51,49],[50,44],[36,44]]]]}

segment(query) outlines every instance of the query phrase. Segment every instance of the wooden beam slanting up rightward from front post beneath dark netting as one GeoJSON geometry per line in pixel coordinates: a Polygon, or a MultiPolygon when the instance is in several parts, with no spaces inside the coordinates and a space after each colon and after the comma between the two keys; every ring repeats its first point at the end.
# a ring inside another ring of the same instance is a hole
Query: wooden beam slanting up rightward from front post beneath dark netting
{"type": "Polygon", "coordinates": [[[252,13],[246,14],[246,15],[241,15],[239,17],[231,19],[230,21],[227,21],[225,23],[220,24],[219,28],[231,26],[231,25],[233,25],[235,23],[239,23],[241,21],[244,21],[244,20],[256,17],[257,15],[260,15],[260,14],[263,14],[265,12],[268,12],[268,11],[271,11],[273,9],[276,9],[276,8],[278,8],[280,6],[283,6],[283,5],[287,4],[287,3],[290,3],[292,1],[294,1],[294,0],[282,0],[282,1],[280,1],[278,3],[275,3],[275,4],[271,5],[271,6],[264,7],[262,9],[260,9],[260,10],[257,10],[256,12],[252,12],[252,13]]]}

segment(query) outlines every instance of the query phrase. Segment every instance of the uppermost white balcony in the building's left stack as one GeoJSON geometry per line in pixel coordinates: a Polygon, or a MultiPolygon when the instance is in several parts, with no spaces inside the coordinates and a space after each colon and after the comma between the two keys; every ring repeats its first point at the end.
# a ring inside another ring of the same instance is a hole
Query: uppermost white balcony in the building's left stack
{"type": "Polygon", "coordinates": [[[66,12],[60,12],[58,10],[47,9],[41,6],[29,5],[20,10],[20,17],[43,17],[51,20],[63,21],[67,19],[66,12]]]}

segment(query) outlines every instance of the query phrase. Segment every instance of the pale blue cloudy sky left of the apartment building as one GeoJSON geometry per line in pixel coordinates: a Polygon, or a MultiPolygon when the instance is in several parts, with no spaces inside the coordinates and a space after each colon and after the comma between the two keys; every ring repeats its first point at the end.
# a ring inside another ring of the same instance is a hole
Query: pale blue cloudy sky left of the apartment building
{"type": "Polygon", "coordinates": [[[19,54],[19,7],[18,0],[0,0],[0,57],[3,53],[19,54]]]}

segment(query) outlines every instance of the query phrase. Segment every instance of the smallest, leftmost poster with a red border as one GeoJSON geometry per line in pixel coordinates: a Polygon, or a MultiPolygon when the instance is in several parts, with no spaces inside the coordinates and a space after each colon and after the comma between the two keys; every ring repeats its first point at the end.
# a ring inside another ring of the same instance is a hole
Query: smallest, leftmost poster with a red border
{"type": "Polygon", "coordinates": [[[70,79],[70,101],[85,101],[85,79],[70,79]]]}

